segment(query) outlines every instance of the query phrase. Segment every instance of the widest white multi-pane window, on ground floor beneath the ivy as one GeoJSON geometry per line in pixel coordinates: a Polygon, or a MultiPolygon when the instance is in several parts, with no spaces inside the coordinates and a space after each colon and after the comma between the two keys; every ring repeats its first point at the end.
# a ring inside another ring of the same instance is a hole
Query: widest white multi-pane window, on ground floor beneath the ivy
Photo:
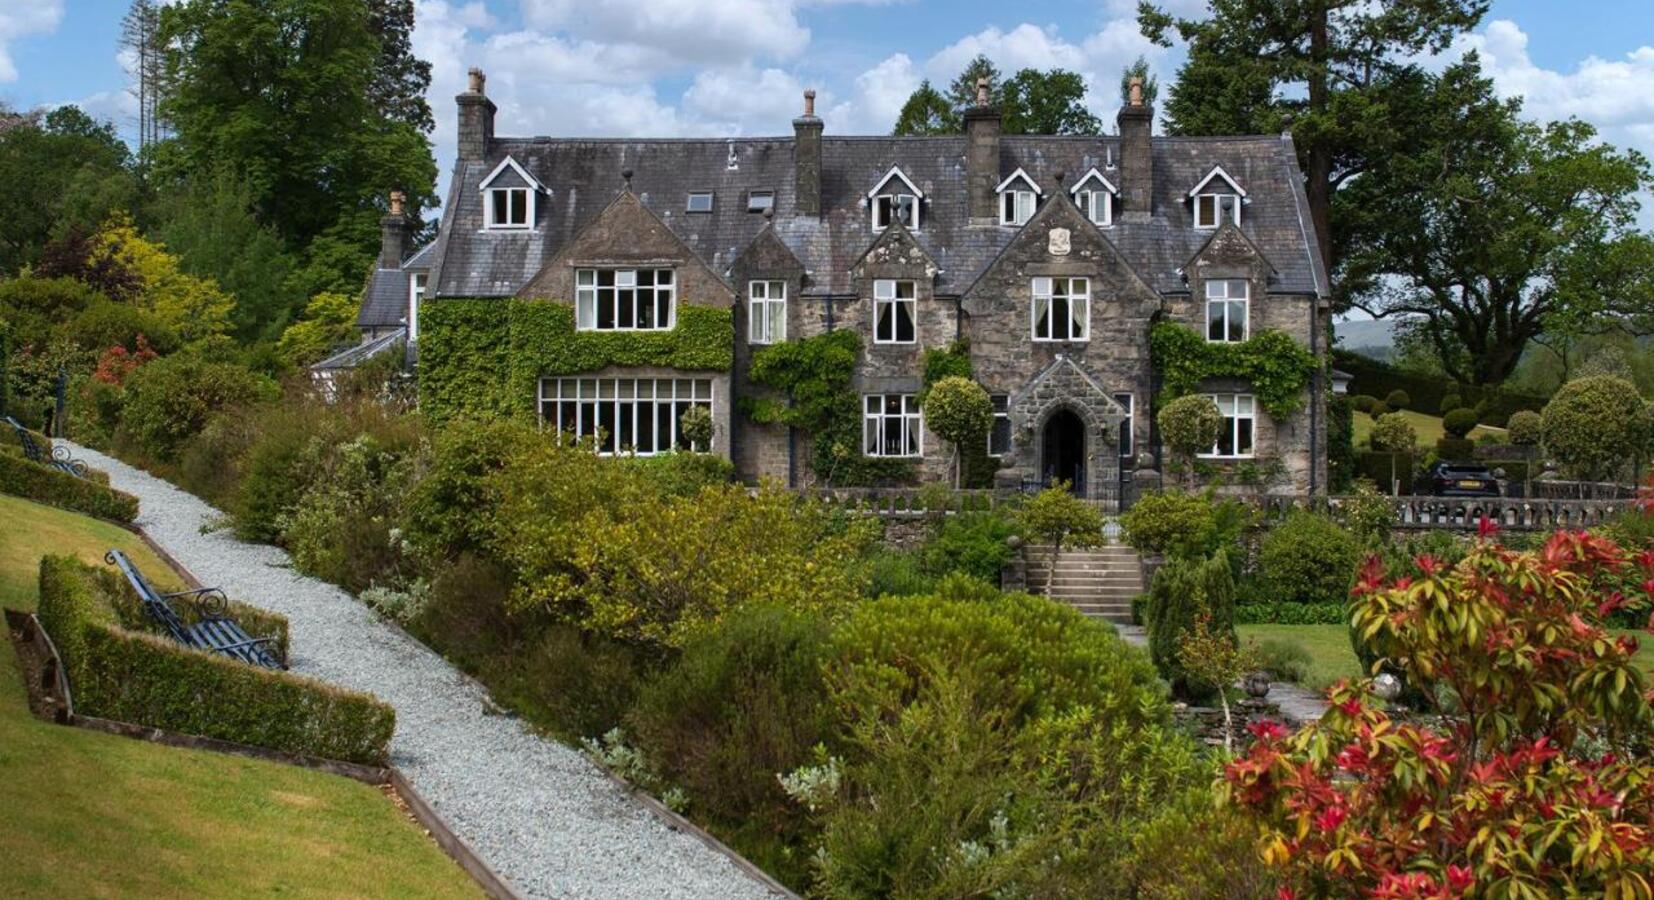
{"type": "Polygon", "coordinates": [[[690,407],[713,412],[711,379],[539,379],[541,425],[602,455],[711,450],[678,435],[690,407]]]}

